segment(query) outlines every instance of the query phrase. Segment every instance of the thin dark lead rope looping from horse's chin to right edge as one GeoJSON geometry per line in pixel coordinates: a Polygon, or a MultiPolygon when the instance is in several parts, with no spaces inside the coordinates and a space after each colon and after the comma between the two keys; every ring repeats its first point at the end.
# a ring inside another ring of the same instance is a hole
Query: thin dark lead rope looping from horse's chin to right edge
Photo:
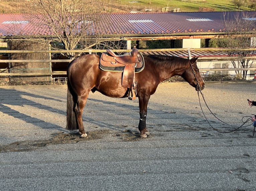
{"type": "MultiPolygon", "coordinates": [[[[210,125],[214,130],[216,130],[217,132],[220,132],[220,133],[230,133],[230,132],[233,132],[233,131],[238,130],[238,129],[241,128],[241,127],[248,127],[248,126],[252,125],[252,123],[251,123],[251,124],[249,124],[249,125],[244,126],[245,123],[247,123],[248,121],[251,120],[251,118],[252,118],[251,116],[244,116],[244,117],[242,117],[242,122],[243,122],[243,124],[242,124],[241,126],[239,126],[239,127],[230,125],[230,124],[228,124],[228,123],[222,121],[221,119],[219,119],[218,117],[216,117],[216,115],[215,115],[215,114],[211,111],[211,109],[208,107],[208,105],[207,105],[207,103],[206,103],[206,100],[205,100],[205,97],[204,97],[203,93],[201,92],[201,90],[200,90],[200,93],[201,93],[201,95],[202,95],[202,97],[203,97],[203,99],[204,99],[205,105],[207,106],[207,108],[208,108],[209,111],[213,114],[213,116],[214,116],[215,118],[217,118],[219,121],[223,122],[223,123],[226,124],[226,125],[229,125],[229,126],[231,126],[231,127],[235,127],[235,128],[236,128],[236,129],[234,129],[234,130],[232,130],[232,131],[219,131],[218,129],[214,128],[214,127],[210,124],[210,122],[208,121],[208,119],[207,119],[206,116],[205,116],[205,113],[204,113],[204,111],[203,111],[203,108],[202,108],[202,105],[201,105],[201,101],[200,101],[199,91],[198,91],[197,94],[198,94],[198,98],[199,98],[199,104],[200,104],[200,108],[201,108],[201,110],[202,110],[202,112],[203,112],[203,115],[204,115],[205,119],[207,120],[207,122],[209,123],[209,125],[210,125]],[[246,117],[248,117],[248,119],[244,122],[244,118],[246,118],[246,117]]],[[[253,136],[254,136],[254,132],[255,132],[255,126],[256,126],[256,124],[254,123],[253,136]]]]}

